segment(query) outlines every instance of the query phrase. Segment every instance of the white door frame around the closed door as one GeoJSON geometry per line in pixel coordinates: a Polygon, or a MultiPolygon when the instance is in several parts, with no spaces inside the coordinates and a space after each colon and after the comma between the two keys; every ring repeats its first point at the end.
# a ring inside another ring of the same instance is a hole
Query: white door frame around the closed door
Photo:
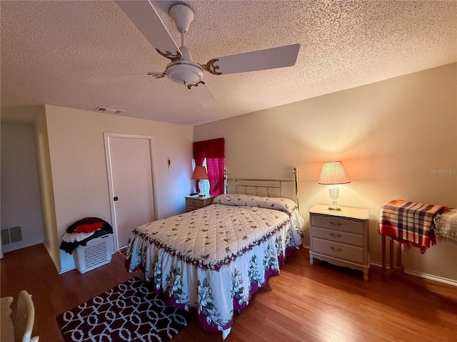
{"type": "MultiPolygon", "coordinates": [[[[156,178],[154,177],[154,157],[153,157],[153,140],[154,137],[151,135],[133,135],[133,134],[124,134],[124,133],[103,133],[104,144],[105,144],[105,158],[106,158],[106,175],[108,177],[108,193],[109,193],[109,209],[111,211],[111,224],[113,227],[114,241],[112,244],[111,253],[116,253],[119,250],[119,244],[117,242],[117,220],[116,220],[116,210],[114,208],[114,191],[113,191],[113,174],[111,172],[111,152],[109,146],[109,138],[128,138],[128,139],[147,139],[149,140],[149,152],[151,158],[151,179],[152,179],[152,198],[154,200],[154,221],[157,219],[157,212],[159,207],[157,205],[157,195],[156,195],[156,178]]],[[[134,227],[136,228],[136,227],[134,227]]]]}

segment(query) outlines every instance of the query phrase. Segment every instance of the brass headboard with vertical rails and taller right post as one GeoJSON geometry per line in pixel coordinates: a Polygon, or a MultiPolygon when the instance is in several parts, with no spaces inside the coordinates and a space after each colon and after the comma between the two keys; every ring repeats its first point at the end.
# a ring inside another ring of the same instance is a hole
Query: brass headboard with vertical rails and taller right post
{"type": "MultiPolygon", "coordinates": [[[[229,191],[229,182],[235,182],[235,192],[238,193],[238,188],[243,187],[244,193],[248,193],[248,189],[255,190],[255,195],[258,196],[258,191],[263,190],[268,197],[271,197],[271,192],[275,192],[275,197],[283,197],[283,183],[294,183],[295,196],[294,200],[298,207],[298,167],[293,167],[293,180],[258,180],[252,178],[229,178],[227,177],[227,170],[225,171],[226,191],[229,191]],[[268,185],[266,185],[268,183],[268,185]],[[273,184],[271,184],[273,183],[273,184]]],[[[299,209],[299,208],[298,208],[299,209]]]]}

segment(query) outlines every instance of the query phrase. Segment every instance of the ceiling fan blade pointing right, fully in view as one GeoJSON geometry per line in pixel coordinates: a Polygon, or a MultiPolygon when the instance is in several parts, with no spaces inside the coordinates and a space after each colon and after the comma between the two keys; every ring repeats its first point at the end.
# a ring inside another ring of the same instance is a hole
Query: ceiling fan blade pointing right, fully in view
{"type": "Polygon", "coordinates": [[[296,62],[299,49],[300,44],[293,44],[213,58],[206,63],[205,68],[206,71],[214,75],[225,75],[226,73],[246,73],[247,71],[293,66],[296,62]]]}

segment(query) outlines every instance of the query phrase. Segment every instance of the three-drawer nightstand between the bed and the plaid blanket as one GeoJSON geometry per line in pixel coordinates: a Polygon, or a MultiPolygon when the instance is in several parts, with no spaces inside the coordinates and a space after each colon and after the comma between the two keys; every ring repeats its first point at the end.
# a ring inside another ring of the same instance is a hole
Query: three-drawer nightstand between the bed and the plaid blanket
{"type": "Polygon", "coordinates": [[[368,252],[368,209],[341,207],[330,210],[328,205],[316,204],[309,209],[309,263],[313,257],[337,266],[363,271],[368,281],[370,254],[368,252]]]}

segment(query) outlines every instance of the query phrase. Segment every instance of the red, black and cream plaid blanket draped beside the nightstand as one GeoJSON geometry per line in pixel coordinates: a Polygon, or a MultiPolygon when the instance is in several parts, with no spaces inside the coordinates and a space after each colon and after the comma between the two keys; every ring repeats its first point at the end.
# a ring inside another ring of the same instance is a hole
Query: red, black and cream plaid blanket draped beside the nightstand
{"type": "Polygon", "coordinates": [[[433,217],[443,208],[442,205],[393,199],[381,207],[379,232],[396,239],[405,250],[413,246],[425,253],[430,244],[436,243],[433,217]]]}

